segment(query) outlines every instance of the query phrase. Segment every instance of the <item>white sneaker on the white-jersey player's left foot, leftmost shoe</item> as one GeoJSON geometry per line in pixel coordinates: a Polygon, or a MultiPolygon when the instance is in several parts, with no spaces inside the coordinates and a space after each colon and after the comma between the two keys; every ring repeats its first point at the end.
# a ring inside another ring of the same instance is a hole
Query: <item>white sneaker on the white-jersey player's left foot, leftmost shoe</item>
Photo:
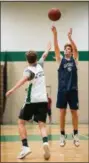
{"type": "Polygon", "coordinates": [[[17,158],[22,159],[25,156],[27,156],[29,153],[31,153],[31,149],[29,147],[23,146],[22,151],[20,152],[17,158]]]}

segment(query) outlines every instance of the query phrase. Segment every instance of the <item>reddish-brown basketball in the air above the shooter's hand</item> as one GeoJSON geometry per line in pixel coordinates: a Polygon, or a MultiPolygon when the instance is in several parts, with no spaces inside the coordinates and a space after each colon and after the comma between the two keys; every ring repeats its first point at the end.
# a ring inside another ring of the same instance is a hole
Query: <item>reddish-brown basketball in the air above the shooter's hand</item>
{"type": "Polygon", "coordinates": [[[61,12],[58,8],[52,8],[48,11],[48,17],[52,21],[57,21],[61,17],[61,12]]]}

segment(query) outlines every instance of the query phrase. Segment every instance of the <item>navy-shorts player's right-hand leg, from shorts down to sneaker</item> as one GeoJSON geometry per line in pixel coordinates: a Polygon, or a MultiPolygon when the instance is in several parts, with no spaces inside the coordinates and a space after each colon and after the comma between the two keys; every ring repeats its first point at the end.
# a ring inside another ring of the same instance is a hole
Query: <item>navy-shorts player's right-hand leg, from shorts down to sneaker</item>
{"type": "Polygon", "coordinates": [[[71,91],[69,95],[69,105],[71,108],[72,124],[73,124],[73,142],[75,146],[79,146],[78,136],[78,92],[71,91]]]}

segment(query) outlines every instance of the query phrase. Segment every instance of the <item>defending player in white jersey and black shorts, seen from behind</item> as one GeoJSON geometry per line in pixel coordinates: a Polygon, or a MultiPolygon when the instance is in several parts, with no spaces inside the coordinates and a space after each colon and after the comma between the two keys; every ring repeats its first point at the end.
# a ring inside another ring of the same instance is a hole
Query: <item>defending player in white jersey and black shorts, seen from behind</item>
{"type": "Polygon", "coordinates": [[[38,122],[41,136],[43,139],[44,158],[50,158],[50,150],[48,144],[48,136],[46,131],[46,116],[47,116],[47,92],[45,84],[45,75],[43,70],[43,63],[51,49],[51,44],[47,46],[47,50],[43,53],[41,59],[37,62],[37,53],[35,51],[28,51],[26,58],[29,66],[24,70],[23,78],[6,93],[6,96],[12,94],[16,89],[29,81],[29,88],[25,104],[20,111],[18,128],[22,141],[22,151],[18,158],[22,159],[29,153],[31,148],[28,146],[27,131],[25,122],[29,121],[34,116],[34,121],[38,122]]]}

